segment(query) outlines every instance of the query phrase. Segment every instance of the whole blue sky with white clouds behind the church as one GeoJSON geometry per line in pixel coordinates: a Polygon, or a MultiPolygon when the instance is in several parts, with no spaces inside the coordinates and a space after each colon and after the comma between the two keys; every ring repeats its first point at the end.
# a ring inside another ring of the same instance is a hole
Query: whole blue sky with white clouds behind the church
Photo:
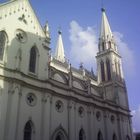
{"type": "MultiPolygon", "coordinates": [[[[4,0],[0,0],[3,2],[4,0]]],[[[93,67],[101,24],[106,14],[122,56],[133,130],[140,132],[140,0],[30,0],[42,26],[49,23],[54,54],[58,29],[62,30],[66,58],[73,66],[93,67]]]]}

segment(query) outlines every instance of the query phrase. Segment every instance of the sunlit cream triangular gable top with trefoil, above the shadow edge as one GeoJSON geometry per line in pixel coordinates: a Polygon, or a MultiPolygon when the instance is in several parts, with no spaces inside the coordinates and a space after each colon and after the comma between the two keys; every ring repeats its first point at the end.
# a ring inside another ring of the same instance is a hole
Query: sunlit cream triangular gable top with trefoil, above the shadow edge
{"type": "Polygon", "coordinates": [[[11,35],[11,28],[19,28],[40,37],[45,37],[43,29],[28,0],[10,1],[0,5],[0,22],[0,29],[5,28],[11,35]]]}

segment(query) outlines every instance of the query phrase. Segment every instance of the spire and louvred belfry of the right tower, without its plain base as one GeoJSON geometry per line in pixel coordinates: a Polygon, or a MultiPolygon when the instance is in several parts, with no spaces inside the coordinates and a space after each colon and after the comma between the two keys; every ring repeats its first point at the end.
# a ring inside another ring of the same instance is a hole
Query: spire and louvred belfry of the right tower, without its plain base
{"type": "Polygon", "coordinates": [[[105,9],[102,8],[102,21],[97,53],[98,83],[123,81],[121,56],[111,31],[105,9]]]}

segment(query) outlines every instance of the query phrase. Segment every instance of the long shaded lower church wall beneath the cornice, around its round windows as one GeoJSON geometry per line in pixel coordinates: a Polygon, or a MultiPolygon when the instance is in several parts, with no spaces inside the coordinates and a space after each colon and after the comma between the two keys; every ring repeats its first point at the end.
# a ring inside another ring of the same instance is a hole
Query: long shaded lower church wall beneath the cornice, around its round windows
{"type": "MultiPolygon", "coordinates": [[[[83,128],[87,140],[97,139],[99,131],[102,132],[103,138],[106,138],[107,132],[108,140],[112,140],[112,135],[114,133],[119,138],[117,116],[110,111],[106,116],[104,115],[104,110],[102,108],[94,107],[92,105],[89,106],[85,103],[80,103],[79,101],[75,102],[74,100],[68,100],[65,97],[62,98],[59,94],[56,96],[49,91],[40,92],[33,87],[23,87],[16,83],[11,85],[11,83],[5,82],[4,85],[7,89],[10,87],[10,93],[8,94],[8,90],[5,90],[5,97],[3,97],[3,103],[8,102],[8,96],[10,98],[8,107],[4,104],[5,108],[8,108],[9,110],[6,112],[8,114],[8,117],[6,117],[7,124],[2,124],[3,126],[6,126],[4,129],[5,133],[3,133],[7,134],[5,135],[8,136],[7,140],[22,139],[24,127],[28,120],[32,120],[34,124],[33,136],[35,140],[51,139],[54,132],[61,127],[65,130],[66,134],[71,134],[70,140],[78,139],[79,130],[81,128],[83,128]],[[27,104],[26,98],[28,93],[34,93],[37,97],[35,106],[27,104]],[[58,112],[56,110],[55,105],[58,100],[63,102],[63,112],[58,112]],[[79,115],[79,107],[84,108],[84,115],[82,117],[79,115]],[[96,116],[98,111],[101,113],[101,119],[99,121],[96,116]],[[114,123],[111,122],[111,115],[115,117],[114,123]]],[[[68,94],[67,91],[66,94],[68,94]]],[[[3,120],[7,114],[3,114],[3,120]]],[[[123,122],[121,124],[124,130],[122,135],[125,137],[131,132],[131,130],[129,130],[130,126],[128,126],[128,122],[123,122]]],[[[3,130],[3,128],[1,128],[1,130],[3,130]]],[[[4,137],[4,135],[1,135],[1,137],[2,136],[4,137]]]]}

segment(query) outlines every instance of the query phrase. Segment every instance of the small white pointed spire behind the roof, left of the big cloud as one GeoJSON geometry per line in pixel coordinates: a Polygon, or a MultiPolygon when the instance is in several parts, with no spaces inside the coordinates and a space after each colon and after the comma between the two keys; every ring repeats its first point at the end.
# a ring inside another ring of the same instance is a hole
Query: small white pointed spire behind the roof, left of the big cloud
{"type": "Polygon", "coordinates": [[[64,54],[64,47],[63,47],[63,41],[62,41],[62,32],[58,31],[58,40],[57,40],[57,46],[55,50],[55,59],[65,62],[65,54],[64,54]]]}

